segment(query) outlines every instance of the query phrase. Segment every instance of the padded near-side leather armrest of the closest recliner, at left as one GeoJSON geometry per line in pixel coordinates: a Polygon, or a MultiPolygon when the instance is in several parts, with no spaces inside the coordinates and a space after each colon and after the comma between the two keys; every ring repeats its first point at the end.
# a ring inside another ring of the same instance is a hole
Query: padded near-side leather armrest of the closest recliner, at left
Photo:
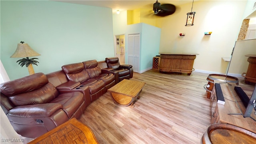
{"type": "Polygon", "coordinates": [[[62,104],[58,103],[16,106],[9,111],[9,115],[28,118],[50,117],[54,112],[62,108],[62,104]]]}

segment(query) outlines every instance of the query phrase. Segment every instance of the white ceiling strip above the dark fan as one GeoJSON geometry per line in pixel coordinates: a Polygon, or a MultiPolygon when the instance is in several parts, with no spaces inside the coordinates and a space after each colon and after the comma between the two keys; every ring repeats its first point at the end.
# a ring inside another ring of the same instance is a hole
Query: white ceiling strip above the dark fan
{"type": "MultiPolygon", "coordinates": [[[[99,6],[112,8],[113,13],[116,10],[135,10],[137,8],[148,8],[153,10],[153,4],[156,0],[54,0],[58,2],[67,2],[73,4],[83,4],[89,6],[99,6]]],[[[194,0],[198,1],[198,0],[194,0]]],[[[180,6],[186,3],[192,3],[193,0],[158,0],[161,4],[173,4],[174,6],[180,6]]]]}

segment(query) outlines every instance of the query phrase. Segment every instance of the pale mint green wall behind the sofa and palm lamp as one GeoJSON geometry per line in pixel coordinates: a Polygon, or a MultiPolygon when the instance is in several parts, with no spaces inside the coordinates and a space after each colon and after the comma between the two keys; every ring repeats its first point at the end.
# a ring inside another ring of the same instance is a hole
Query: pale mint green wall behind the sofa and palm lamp
{"type": "Polygon", "coordinates": [[[54,72],[64,64],[114,56],[112,9],[54,1],[0,1],[0,58],[10,80],[28,69],[10,58],[20,41],[41,56],[35,72],[54,72]]]}

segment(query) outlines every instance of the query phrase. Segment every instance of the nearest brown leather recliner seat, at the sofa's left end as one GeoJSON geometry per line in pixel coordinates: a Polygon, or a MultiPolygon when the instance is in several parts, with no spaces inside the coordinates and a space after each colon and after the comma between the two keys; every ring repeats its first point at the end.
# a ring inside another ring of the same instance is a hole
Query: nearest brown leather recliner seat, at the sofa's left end
{"type": "Polygon", "coordinates": [[[0,89],[2,109],[14,130],[27,138],[79,118],[86,109],[82,92],[60,93],[43,73],[4,82],[0,89]]]}

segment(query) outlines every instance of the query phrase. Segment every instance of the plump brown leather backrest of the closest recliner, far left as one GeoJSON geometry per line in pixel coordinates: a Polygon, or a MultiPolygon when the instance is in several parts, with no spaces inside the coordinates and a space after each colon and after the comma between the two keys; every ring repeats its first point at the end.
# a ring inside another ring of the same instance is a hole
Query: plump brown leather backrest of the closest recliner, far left
{"type": "Polygon", "coordinates": [[[43,73],[5,82],[1,84],[1,92],[15,106],[48,103],[58,95],[58,90],[43,73]]]}

